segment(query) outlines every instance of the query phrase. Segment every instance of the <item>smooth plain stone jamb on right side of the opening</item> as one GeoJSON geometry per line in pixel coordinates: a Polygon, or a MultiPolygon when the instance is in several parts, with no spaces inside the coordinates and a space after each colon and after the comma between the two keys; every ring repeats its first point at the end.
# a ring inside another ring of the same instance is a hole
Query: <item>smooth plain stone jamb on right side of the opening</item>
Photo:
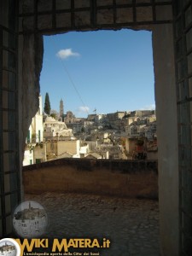
{"type": "Polygon", "coordinates": [[[172,25],[153,30],[162,255],[178,255],[177,104],[172,25]],[[172,202],[172,203],[171,203],[172,202]]]}

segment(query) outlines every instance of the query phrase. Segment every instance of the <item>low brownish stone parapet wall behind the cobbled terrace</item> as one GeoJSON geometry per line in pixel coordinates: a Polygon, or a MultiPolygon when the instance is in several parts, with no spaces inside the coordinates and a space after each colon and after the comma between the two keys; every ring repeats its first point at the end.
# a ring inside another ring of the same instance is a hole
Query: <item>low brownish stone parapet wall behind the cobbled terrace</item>
{"type": "Polygon", "coordinates": [[[24,191],[157,199],[156,168],[156,161],[53,160],[23,168],[24,191]]]}

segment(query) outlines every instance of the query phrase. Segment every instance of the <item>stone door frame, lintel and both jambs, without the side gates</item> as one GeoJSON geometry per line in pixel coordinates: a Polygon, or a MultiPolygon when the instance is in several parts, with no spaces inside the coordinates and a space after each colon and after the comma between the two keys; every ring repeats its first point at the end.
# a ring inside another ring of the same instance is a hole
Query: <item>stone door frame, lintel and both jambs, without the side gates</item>
{"type": "MultiPolygon", "coordinates": [[[[153,32],[160,184],[160,241],[165,255],[178,255],[178,158],[172,1],[20,0],[18,105],[20,170],[26,132],[38,110],[43,34],[98,29],[153,32]],[[168,124],[168,125],[167,125],[168,124]],[[172,202],[170,204],[170,202],[172,202]]],[[[21,172],[20,172],[21,173],[21,172]]],[[[20,177],[21,181],[21,177],[20,177]]]]}

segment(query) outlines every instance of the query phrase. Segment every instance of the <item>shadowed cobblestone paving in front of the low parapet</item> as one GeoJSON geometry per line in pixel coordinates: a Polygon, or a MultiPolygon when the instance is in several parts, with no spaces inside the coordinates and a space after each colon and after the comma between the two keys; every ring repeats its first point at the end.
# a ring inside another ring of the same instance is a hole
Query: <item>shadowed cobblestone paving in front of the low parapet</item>
{"type": "Polygon", "coordinates": [[[110,248],[101,249],[101,256],[160,255],[158,201],[55,193],[26,200],[38,201],[48,213],[48,237],[106,237],[110,248]]]}

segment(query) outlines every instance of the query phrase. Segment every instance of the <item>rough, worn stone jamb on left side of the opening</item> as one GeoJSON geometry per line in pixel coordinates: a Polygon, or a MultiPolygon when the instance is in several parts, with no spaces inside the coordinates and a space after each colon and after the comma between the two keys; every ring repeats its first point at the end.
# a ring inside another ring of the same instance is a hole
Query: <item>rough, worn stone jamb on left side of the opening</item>
{"type": "MultiPolygon", "coordinates": [[[[22,131],[27,136],[32,117],[38,112],[38,96],[40,93],[39,78],[44,55],[43,36],[25,34],[22,52],[22,131]]],[[[25,139],[23,141],[25,147],[25,139]]]]}

